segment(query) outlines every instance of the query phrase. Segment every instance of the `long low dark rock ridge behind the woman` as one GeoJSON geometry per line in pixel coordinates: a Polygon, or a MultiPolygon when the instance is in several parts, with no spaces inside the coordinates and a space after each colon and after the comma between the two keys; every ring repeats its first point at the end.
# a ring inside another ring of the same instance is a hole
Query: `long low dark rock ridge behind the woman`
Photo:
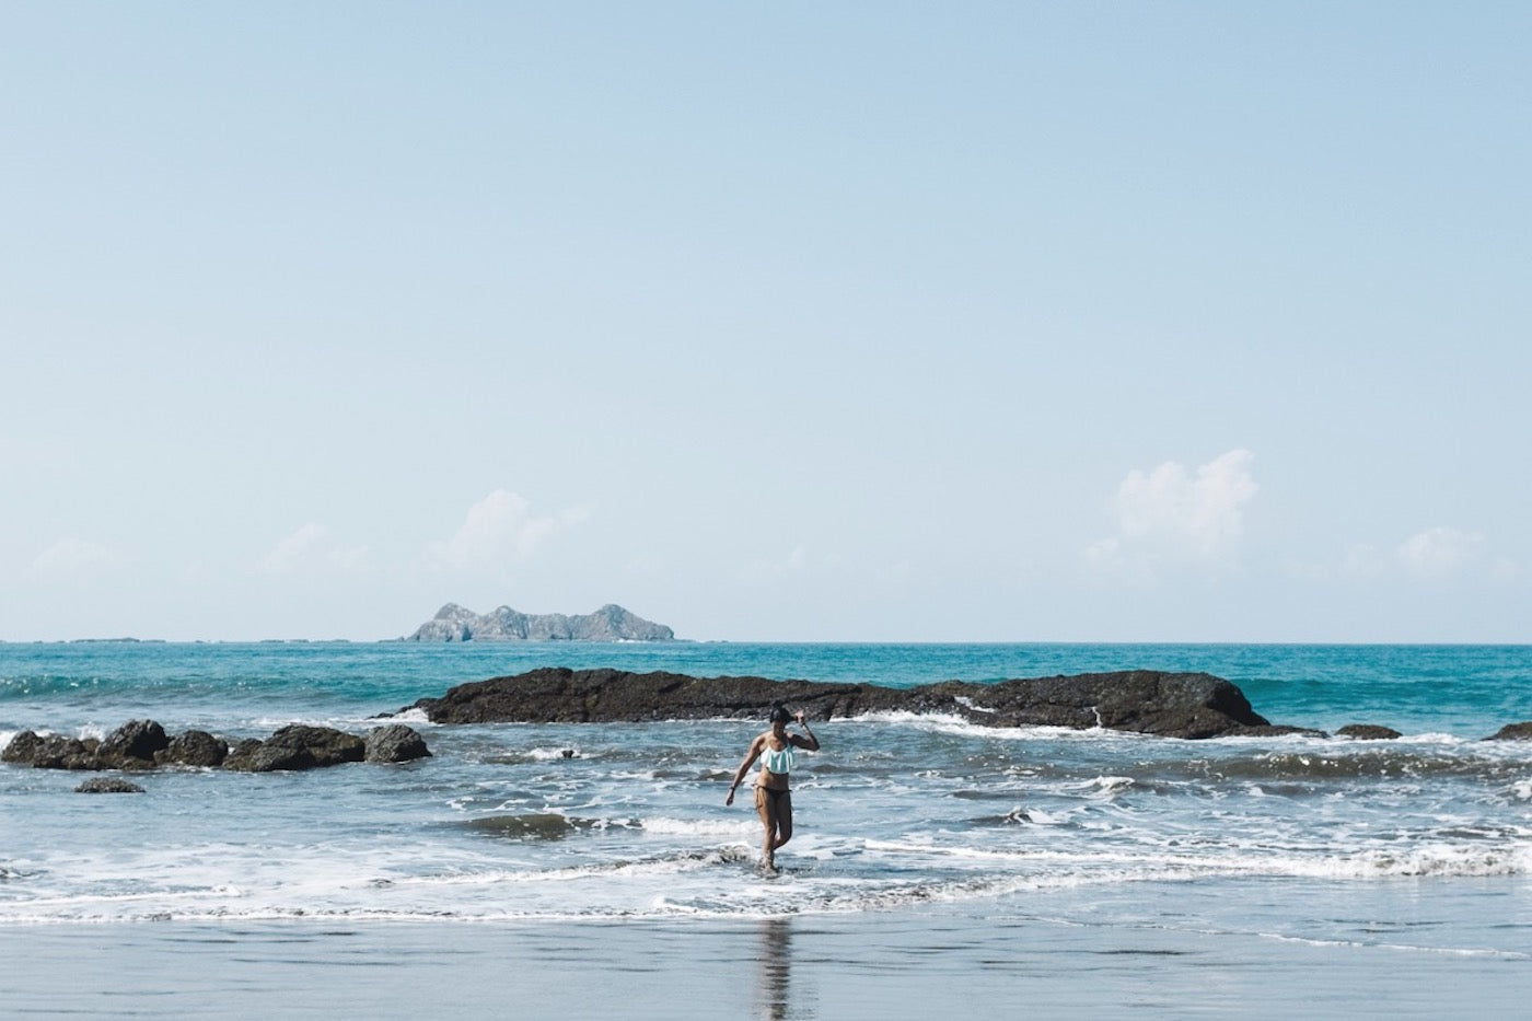
{"type": "Polygon", "coordinates": [[[778,699],[813,719],[904,710],[958,714],[984,727],[1103,727],[1166,737],[1216,737],[1270,727],[1229,681],[1157,670],[884,688],[548,667],[463,684],[440,699],[420,699],[406,708],[423,710],[437,724],[764,721],[766,708],[778,699]]]}

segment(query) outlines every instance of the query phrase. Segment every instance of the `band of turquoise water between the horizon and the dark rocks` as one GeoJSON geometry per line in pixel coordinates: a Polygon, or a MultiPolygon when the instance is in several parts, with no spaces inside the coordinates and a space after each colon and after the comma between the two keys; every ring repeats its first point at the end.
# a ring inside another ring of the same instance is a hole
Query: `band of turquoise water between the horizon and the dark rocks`
{"type": "Polygon", "coordinates": [[[1124,668],[1206,671],[1273,722],[1379,722],[1483,736],[1532,719],[1529,645],[1077,644],[0,644],[0,731],[161,707],[172,721],[265,710],[381,713],[453,684],[541,665],[908,687],[1124,668]]]}

